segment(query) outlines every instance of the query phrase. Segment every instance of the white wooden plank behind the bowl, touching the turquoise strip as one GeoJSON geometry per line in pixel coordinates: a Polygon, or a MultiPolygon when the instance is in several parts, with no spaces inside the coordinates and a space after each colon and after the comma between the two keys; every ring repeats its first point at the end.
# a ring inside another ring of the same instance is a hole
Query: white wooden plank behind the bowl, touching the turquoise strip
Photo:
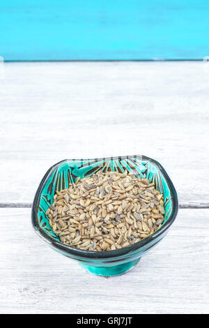
{"type": "Polygon", "coordinates": [[[207,65],[5,64],[1,204],[30,205],[47,169],[65,158],[144,154],[170,174],[181,206],[207,207],[207,65]]]}

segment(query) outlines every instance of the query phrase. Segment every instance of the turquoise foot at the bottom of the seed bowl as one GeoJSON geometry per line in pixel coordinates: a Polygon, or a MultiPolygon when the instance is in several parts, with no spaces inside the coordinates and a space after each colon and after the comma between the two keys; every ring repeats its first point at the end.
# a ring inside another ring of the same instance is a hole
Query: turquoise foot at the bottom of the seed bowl
{"type": "Polygon", "coordinates": [[[137,258],[137,260],[114,265],[112,267],[89,267],[88,265],[83,263],[79,263],[79,265],[86,269],[88,272],[91,272],[91,274],[95,274],[96,276],[112,277],[121,276],[121,274],[125,274],[127,271],[135,267],[139,260],[140,258],[137,258]]]}

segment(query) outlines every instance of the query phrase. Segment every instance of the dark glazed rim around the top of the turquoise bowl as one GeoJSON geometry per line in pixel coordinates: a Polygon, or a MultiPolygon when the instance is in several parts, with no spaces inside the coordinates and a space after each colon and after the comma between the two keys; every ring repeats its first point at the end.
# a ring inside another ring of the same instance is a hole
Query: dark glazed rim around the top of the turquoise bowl
{"type": "Polygon", "coordinates": [[[38,189],[36,191],[35,197],[33,199],[33,204],[32,204],[32,209],[31,209],[31,220],[32,220],[32,225],[37,234],[42,237],[48,244],[51,244],[51,246],[54,246],[55,248],[59,249],[60,251],[63,251],[65,253],[68,253],[69,255],[72,255],[73,257],[79,257],[79,258],[88,258],[91,260],[100,260],[100,259],[112,259],[112,258],[118,258],[121,257],[122,255],[126,255],[128,253],[132,253],[133,251],[139,250],[139,248],[142,248],[144,246],[148,246],[153,240],[159,239],[161,235],[163,235],[169,227],[172,225],[173,221],[175,220],[176,216],[178,214],[178,195],[176,193],[176,188],[173,186],[173,183],[171,179],[169,178],[169,175],[167,174],[166,170],[164,170],[164,167],[162,165],[155,161],[153,158],[149,158],[144,155],[130,155],[130,156],[114,156],[114,157],[103,157],[103,158],[79,158],[79,159],[65,159],[63,161],[59,161],[58,163],[52,165],[52,167],[47,170],[45,173],[44,177],[40,181],[40,184],[38,186],[38,189]],[[164,178],[167,181],[167,184],[169,186],[169,189],[171,191],[171,202],[173,203],[172,207],[172,212],[171,216],[169,219],[162,225],[162,227],[151,234],[149,237],[146,237],[142,239],[141,241],[138,241],[136,244],[132,244],[130,246],[120,248],[114,251],[84,251],[80,250],[78,248],[73,248],[71,246],[68,246],[67,244],[61,243],[61,241],[57,241],[53,237],[51,237],[49,234],[47,234],[45,231],[43,231],[40,228],[40,225],[38,223],[38,207],[39,207],[39,202],[40,202],[40,195],[42,193],[42,188],[45,186],[45,182],[49,178],[49,176],[56,170],[59,165],[62,163],[68,163],[70,161],[75,162],[75,161],[102,161],[102,160],[112,160],[112,159],[123,159],[123,158],[140,158],[141,161],[150,161],[155,163],[157,167],[159,167],[160,171],[162,172],[164,178]]]}

